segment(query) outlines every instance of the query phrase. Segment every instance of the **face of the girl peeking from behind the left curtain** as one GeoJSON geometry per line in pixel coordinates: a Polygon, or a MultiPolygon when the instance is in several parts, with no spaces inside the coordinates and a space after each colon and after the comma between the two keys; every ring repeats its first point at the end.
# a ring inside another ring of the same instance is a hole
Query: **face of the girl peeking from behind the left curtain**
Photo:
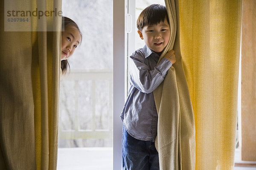
{"type": "Polygon", "coordinates": [[[81,40],[79,30],[72,25],[65,27],[61,33],[61,60],[68,59],[75,51],[81,40]]]}

